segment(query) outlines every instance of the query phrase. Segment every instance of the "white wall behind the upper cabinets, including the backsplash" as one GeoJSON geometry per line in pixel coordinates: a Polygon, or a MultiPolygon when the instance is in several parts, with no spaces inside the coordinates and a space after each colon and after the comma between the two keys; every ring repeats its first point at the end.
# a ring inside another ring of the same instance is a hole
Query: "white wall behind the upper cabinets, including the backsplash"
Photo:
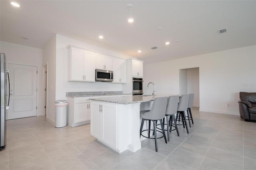
{"type": "Polygon", "coordinates": [[[95,45],[80,42],[72,38],[56,35],[56,100],[66,99],[66,92],[78,91],[122,91],[122,84],[107,83],[107,82],[73,82],[67,81],[67,66],[68,66],[68,45],[74,45],[99,53],[104,53],[108,56],[120,58],[130,58],[128,55],[117,53],[108,49],[104,49],[95,45]]]}

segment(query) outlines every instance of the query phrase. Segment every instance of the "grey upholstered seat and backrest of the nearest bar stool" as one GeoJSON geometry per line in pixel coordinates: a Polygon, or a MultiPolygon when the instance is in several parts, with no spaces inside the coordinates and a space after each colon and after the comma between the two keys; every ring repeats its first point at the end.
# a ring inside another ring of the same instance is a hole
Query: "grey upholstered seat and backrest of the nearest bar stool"
{"type": "Polygon", "coordinates": [[[165,117],[167,97],[157,97],[154,99],[151,110],[145,113],[145,119],[159,120],[165,117]]]}

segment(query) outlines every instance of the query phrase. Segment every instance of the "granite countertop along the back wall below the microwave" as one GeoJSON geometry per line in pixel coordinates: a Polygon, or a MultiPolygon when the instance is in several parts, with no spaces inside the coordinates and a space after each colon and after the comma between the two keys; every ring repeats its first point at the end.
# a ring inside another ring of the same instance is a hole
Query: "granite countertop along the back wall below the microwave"
{"type": "Polygon", "coordinates": [[[90,92],[66,92],[66,97],[90,97],[108,95],[131,95],[122,91],[90,91],[90,92]]]}

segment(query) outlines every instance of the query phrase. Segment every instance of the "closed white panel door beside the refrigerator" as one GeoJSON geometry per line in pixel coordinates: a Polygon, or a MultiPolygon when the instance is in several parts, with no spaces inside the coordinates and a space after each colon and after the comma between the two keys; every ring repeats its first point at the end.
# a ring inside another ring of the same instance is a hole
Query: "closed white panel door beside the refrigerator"
{"type": "Polygon", "coordinates": [[[36,116],[37,67],[8,64],[10,72],[9,119],[36,116]]]}

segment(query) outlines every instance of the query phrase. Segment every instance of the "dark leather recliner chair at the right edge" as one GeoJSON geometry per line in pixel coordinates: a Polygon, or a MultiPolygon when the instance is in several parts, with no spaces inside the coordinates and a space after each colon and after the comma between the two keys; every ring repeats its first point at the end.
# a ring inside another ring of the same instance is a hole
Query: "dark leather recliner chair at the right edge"
{"type": "Polygon", "coordinates": [[[245,121],[256,121],[256,93],[240,92],[239,111],[245,121]]]}

